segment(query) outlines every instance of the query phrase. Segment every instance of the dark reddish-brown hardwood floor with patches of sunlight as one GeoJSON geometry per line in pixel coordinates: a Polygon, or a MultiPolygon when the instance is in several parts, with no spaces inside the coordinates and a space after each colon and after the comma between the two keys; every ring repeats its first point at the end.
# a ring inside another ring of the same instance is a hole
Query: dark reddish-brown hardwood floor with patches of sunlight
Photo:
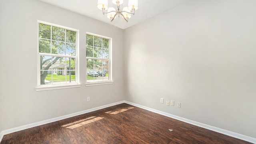
{"type": "Polygon", "coordinates": [[[123,103],[7,134],[0,144],[250,143],[123,103]]]}

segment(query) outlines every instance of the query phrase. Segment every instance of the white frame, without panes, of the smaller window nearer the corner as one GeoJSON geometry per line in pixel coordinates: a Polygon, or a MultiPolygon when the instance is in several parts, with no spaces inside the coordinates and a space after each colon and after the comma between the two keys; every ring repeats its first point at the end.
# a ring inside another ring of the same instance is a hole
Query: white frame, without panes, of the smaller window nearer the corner
{"type": "MultiPolygon", "coordinates": [[[[86,83],[85,83],[85,86],[94,86],[94,85],[107,85],[107,84],[112,84],[114,83],[114,81],[112,80],[112,38],[111,37],[106,37],[106,36],[100,36],[98,34],[93,34],[93,33],[90,33],[90,32],[86,32],[86,37],[87,35],[91,35],[91,36],[96,36],[96,37],[102,37],[104,39],[108,39],[108,48],[109,48],[109,51],[108,51],[108,59],[104,59],[104,58],[96,58],[96,57],[86,57],[86,60],[87,58],[89,59],[94,59],[94,60],[108,60],[108,80],[106,81],[90,81],[90,82],[87,82],[87,79],[86,79],[86,83]]],[[[87,47],[87,45],[86,45],[87,47]]],[[[86,69],[87,69],[87,62],[86,62],[86,69]]],[[[87,72],[86,72],[87,74],[87,72]]]]}

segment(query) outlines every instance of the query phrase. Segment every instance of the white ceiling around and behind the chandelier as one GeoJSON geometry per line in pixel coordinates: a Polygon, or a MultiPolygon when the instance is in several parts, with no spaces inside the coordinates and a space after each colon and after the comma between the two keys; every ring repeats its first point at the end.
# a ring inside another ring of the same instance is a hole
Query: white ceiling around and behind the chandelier
{"type": "MultiPolygon", "coordinates": [[[[180,4],[183,4],[189,0],[138,0],[138,10],[132,15],[128,23],[120,16],[113,22],[107,18],[106,14],[103,15],[102,11],[97,8],[98,0],[40,0],[42,2],[82,14],[89,18],[99,20],[101,22],[111,24],[121,29],[126,29],[130,26],[138,24],[148,18],[156,16],[166,10],[174,8],[180,4]]],[[[122,10],[128,5],[128,0],[124,0],[124,3],[120,5],[122,10]]],[[[108,7],[116,8],[116,5],[112,3],[112,0],[108,0],[108,7]]]]}

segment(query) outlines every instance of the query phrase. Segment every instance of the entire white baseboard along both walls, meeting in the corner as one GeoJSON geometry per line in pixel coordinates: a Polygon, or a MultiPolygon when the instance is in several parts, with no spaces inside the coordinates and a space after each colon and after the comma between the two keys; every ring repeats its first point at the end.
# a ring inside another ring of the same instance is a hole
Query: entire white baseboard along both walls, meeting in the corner
{"type": "Polygon", "coordinates": [[[43,120],[43,121],[40,121],[40,122],[35,122],[35,123],[27,124],[27,125],[24,125],[24,126],[19,126],[19,127],[16,127],[16,128],[10,128],[8,130],[3,130],[2,132],[0,132],[0,142],[3,138],[3,136],[6,135],[6,134],[10,134],[10,133],[13,133],[13,132],[18,132],[20,130],[25,130],[25,129],[40,126],[40,125],[43,125],[43,124],[48,124],[48,123],[51,123],[51,122],[56,122],[58,120],[63,120],[63,119],[66,119],[66,118],[71,118],[73,116],[86,114],[88,112],[93,112],[93,111],[96,111],[96,110],[100,110],[102,108],[112,107],[114,105],[118,105],[118,104],[121,104],[121,103],[127,103],[127,104],[133,105],[135,107],[143,108],[145,110],[149,110],[149,111],[152,111],[152,112],[164,115],[164,116],[168,116],[168,117],[174,118],[176,120],[180,120],[180,121],[183,121],[183,122],[186,122],[186,123],[189,123],[189,124],[193,124],[195,126],[206,128],[206,129],[212,130],[214,132],[218,132],[218,133],[221,133],[221,134],[225,134],[225,135],[228,135],[228,136],[231,136],[231,137],[234,137],[234,138],[238,138],[240,140],[244,140],[244,141],[256,144],[256,138],[252,138],[252,137],[245,136],[245,135],[242,135],[242,134],[238,134],[238,133],[235,133],[235,132],[230,132],[228,130],[224,130],[224,129],[221,129],[221,128],[216,128],[214,126],[209,126],[207,124],[202,124],[200,122],[195,122],[193,120],[189,120],[189,119],[186,119],[186,118],[175,116],[175,115],[172,115],[172,114],[169,114],[169,113],[166,113],[166,112],[162,112],[160,110],[156,110],[156,109],[153,109],[153,108],[144,107],[142,105],[138,105],[138,104],[131,103],[131,102],[128,102],[128,101],[120,101],[120,102],[112,103],[112,104],[109,104],[109,105],[104,105],[104,106],[100,106],[100,107],[96,107],[96,108],[91,108],[91,109],[84,110],[84,111],[81,111],[81,112],[75,112],[73,114],[59,116],[59,117],[56,117],[56,118],[51,118],[51,119],[48,119],[48,120],[43,120]]]}

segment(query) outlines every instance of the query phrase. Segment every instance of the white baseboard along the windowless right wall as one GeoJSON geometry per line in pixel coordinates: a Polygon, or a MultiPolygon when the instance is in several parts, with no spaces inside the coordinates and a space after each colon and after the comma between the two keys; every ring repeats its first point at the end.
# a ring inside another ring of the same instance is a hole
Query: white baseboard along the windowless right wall
{"type": "Polygon", "coordinates": [[[172,115],[172,114],[169,114],[169,113],[166,113],[166,112],[162,112],[160,110],[156,110],[156,109],[153,109],[153,108],[149,108],[149,107],[144,107],[142,105],[138,105],[138,104],[135,104],[135,103],[131,103],[131,102],[128,102],[128,101],[125,101],[124,103],[127,103],[129,105],[133,105],[135,107],[139,107],[139,108],[143,108],[145,110],[149,110],[149,111],[152,111],[152,112],[155,112],[155,113],[158,113],[158,114],[161,114],[161,115],[164,115],[164,116],[168,116],[170,118],[174,118],[176,120],[180,120],[182,122],[186,122],[186,123],[189,123],[189,124],[193,124],[195,126],[199,126],[201,128],[206,128],[208,130],[212,130],[214,132],[218,132],[218,133],[221,133],[221,134],[225,134],[227,136],[231,136],[233,138],[238,138],[240,140],[244,140],[246,142],[251,142],[253,144],[256,144],[256,138],[252,138],[250,136],[245,136],[245,135],[242,135],[242,134],[238,134],[238,133],[235,133],[235,132],[230,132],[228,130],[224,130],[224,129],[221,129],[221,128],[216,128],[214,126],[209,126],[207,124],[202,124],[200,122],[195,122],[193,120],[189,120],[189,119],[186,119],[186,118],[182,118],[182,117],[179,117],[179,116],[175,116],[175,115],[172,115]]]}

